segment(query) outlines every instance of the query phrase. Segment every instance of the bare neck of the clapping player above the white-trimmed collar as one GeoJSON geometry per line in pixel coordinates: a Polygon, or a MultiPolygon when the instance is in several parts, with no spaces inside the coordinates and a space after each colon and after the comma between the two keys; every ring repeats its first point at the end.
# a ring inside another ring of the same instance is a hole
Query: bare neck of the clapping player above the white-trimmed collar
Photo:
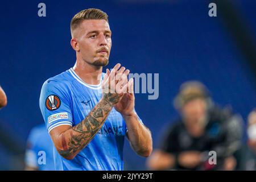
{"type": "Polygon", "coordinates": [[[73,70],[86,84],[98,85],[101,82],[102,67],[95,67],[84,61],[76,61],[73,70]],[[82,63],[83,62],[83,63],[82,63]]]}

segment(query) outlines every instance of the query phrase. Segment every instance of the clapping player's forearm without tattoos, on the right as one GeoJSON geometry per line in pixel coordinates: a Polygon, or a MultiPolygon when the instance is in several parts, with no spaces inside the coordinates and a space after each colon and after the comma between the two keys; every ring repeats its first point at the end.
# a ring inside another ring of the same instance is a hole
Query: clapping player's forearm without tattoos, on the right
{"type": "Polygon", "coordinates": [[[141,156],[148,157],[152,152],[152,138],[150,130],[138,121],[137,114],[124,116],[128,129],[128,138],[134,151],[141,156]]]}

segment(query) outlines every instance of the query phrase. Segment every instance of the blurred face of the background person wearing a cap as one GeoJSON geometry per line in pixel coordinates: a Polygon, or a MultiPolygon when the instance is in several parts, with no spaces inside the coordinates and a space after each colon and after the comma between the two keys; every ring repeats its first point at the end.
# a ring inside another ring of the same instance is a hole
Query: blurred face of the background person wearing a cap
{"type": "Polygon", "coordinates": [[[201,98],[189,101],[183,106],[182,114],[188,125],[203,125],[207,114],[207,104],[201,98]]]}

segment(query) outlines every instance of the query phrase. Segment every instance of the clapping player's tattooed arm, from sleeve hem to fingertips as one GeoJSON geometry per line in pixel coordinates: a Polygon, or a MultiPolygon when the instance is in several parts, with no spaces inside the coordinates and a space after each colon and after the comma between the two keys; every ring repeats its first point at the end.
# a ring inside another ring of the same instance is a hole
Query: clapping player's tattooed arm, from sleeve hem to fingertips
{"type": "Polygon", "coordinates": [[[115,73],[118,72],[127,76],[129,71],[125,71],[123,67],[119,69],[120,66],[120,64],[115,65],[111,73],[107,70],[102,82],[102,89],[107,92],[103,93],[102,99],[84,120],[73,127],[63,125],[50,131],[57,151],[65,159],[73,159],[93,139],[104,124],[113,106],[121,100],[122,90],[125,90],[125,86],[124,88],[116,86],[118,82],[122,85],[122,80],[115,81],[115,73]],[[114,82],[114,84],[110,84],[110,82],[114,82]]]}

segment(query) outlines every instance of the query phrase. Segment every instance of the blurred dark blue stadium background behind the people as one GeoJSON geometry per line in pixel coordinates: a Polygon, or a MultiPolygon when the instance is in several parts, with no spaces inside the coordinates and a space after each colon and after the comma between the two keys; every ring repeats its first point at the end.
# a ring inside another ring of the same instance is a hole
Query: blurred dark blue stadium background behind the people
{"type": "MultiPolygon", "coordinates": [[[[0,111],[0,169],[23,169],[31,128],[43,123],[39,94],[43,82],[75,63],[69,23],[82,9],[108,13],[113,32],[112,68],[159,73],[159,98],[137,94],[136,110],[152,131],[177,117],[172,100],[182,82],[199,80],[214,101],[232,106],[246,122],[256,103],[256,1],[2,1],[0,84],[8,105],[0,111]],[[46,17],[38,4],[46,4],[46,17]],[[210,2],[217,17],[208,16],[210,2]]],[[[246,141],[246,135],[244,142],[246,141]]],[[[146,169],[126,141],[125,169],[146,169]]]]}

